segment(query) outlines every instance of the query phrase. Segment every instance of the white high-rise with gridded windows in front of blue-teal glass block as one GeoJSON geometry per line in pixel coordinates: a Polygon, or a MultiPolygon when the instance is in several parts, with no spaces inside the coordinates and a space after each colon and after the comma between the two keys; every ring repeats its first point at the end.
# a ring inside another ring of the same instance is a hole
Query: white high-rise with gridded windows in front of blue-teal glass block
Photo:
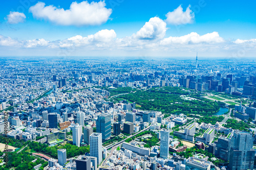
{"type": "Polygon", "coordinates": [[[102,134],[93,133],[90,135],[90,154],[97,158],[97,163],[102,162],[102,134]]]}

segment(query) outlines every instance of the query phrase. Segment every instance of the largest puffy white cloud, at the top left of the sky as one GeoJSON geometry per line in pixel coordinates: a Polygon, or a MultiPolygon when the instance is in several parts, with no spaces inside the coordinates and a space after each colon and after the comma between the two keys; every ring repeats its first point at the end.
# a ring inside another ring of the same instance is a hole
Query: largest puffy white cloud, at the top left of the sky
{"type": "Polygon", "coordinates": [[[92,2],[91,4],[87,1],[73,2],[68,10],[53,5],[45,5],[45,3],[38,2],[30,7],[29,11],[35,18],[47,19],[63,26],[101,25],[109,19],[112,13],[112,9],[105,8],[104,1],[92,2]]]}

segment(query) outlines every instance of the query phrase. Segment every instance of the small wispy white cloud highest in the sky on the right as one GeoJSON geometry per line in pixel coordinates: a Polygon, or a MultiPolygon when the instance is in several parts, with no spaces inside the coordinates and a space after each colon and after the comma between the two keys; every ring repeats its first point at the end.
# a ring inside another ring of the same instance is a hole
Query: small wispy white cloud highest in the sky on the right
{"type": "Polygon", "coordinates": [[[195,18],[194,12],[190,10],[190,5],[184,12],[183,8],[180,5],[173,12],[168,12],[165,16],[165,22],[172,25],[185,25],[187,23],[192,23],[195,18]]]}

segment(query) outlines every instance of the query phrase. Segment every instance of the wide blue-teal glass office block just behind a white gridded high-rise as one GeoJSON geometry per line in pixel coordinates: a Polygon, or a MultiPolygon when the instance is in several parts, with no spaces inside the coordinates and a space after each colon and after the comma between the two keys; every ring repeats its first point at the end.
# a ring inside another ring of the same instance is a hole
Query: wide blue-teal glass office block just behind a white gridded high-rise
{"type": "Polygon", "coordinates": [[[111,115],[98,115],[96,120],[96,132],[102,134],[102,140],[109,139],[111,136],[111,115]]]}

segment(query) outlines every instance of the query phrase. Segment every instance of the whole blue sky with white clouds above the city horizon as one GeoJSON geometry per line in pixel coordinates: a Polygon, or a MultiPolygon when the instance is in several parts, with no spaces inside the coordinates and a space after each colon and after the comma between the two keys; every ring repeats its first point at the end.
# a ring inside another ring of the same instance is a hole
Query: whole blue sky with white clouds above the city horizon
{"type": "Polygon", "coordinates": [[[70,11],[74,2],[2,1],[0,56],[54,56],[71,48],[65,55],[254,57],[256,51],[255,1],[76,1],[70,11]]]}

